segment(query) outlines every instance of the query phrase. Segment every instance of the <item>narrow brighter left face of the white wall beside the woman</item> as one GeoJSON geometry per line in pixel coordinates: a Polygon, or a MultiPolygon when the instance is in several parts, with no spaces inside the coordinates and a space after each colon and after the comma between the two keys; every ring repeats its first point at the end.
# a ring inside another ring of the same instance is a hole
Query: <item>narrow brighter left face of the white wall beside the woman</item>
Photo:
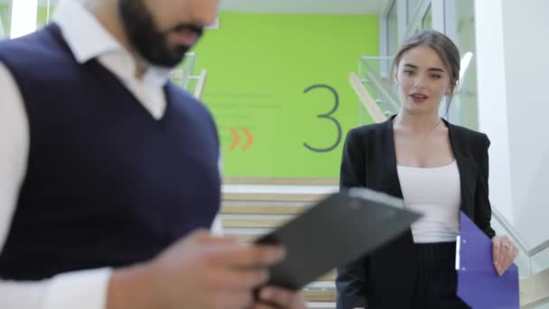
{"type": "Polygon", "coordinates": [[[490,200],[513,223],[513,204],[507,128],[507,81],[500,0],[475,1],[479,130],[492,142],[490,200]]]}

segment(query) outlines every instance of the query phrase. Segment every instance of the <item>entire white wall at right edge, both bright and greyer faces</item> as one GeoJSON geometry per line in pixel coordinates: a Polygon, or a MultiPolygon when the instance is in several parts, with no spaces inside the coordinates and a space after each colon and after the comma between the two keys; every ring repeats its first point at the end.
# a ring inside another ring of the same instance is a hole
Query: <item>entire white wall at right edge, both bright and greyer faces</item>
{"type": "Polygon", "coordinates": [[[549,1],[476,1],[479,129],[490,190],[529,246],[549,239],[549,1]]]}

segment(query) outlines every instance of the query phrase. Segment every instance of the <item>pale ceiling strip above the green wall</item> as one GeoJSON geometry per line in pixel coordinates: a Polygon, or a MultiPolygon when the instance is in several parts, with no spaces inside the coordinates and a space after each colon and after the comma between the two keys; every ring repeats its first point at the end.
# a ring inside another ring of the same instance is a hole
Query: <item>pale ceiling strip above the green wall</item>
{"type": "Polygon", "coordinates": [[[219,0],[222,12],[382,14],[390,0],[219,0]]]}

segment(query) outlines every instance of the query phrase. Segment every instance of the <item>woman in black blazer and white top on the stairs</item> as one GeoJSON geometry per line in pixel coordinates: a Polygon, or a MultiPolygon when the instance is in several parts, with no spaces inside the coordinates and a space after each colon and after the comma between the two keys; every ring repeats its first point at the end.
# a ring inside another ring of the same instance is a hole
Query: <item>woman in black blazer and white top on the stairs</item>
{"type": "Polygon", "coordinates": [[[439,117],[460,77],[460,53],[442,33],[424,30],[396,53],[391,76],[401,109],[385,123],[349,132],[340,187],[368,187],[404,198],[423,218],[376,253],[338,269],[338,308],[468,308],[456,295],[460,211],[492,238],[503,274],[517,254],[490,227],[488,136],[439,117]]]}

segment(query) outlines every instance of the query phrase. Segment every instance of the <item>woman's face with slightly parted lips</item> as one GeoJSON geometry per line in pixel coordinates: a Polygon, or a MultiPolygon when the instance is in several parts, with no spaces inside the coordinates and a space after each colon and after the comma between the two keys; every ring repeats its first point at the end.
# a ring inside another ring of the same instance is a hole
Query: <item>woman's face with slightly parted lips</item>
{"type": "Polygon", "coordinates": [[[437,114],[442,97],[451,93],[450,75],[429,46],[406,51],[395,74],[398,94],[407,114],[437,114]]]}

